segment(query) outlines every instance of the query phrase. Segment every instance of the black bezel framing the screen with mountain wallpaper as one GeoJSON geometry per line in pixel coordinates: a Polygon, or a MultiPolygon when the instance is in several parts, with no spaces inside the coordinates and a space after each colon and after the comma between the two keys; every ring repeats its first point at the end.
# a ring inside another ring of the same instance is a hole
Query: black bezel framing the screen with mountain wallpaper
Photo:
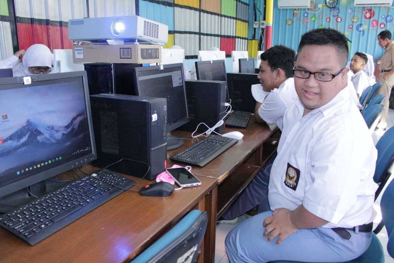
{"type": "MultiPolygon", "coordinates": [[[[82,81],[84,83],[85,105],[86,105],[86,111],[87,111],[87,119],[88,119],[88,123],[89,123],[89,133],[90,133],[90,140],[91,140],[91,146],[92,146],[92,153],[89,153],[88,155],[85,155],[84,157],[80,157],[80,158],[71,160],[71,161],[61,164],[59,166],[50,168],[50,169],[45,170],[43,172],[38,172],[38,173],[32,174],[28,177],[12,181],[6,185],[3,185],[3,186],[0,185],[0,197],[6,196],[8,194],[12,194],[13,192],[16,192],[16,191],[21,190],[26,187],[29,187],[31,185],[34,185],[35,183],[39,183],[39,182],[49,179],[55,175],[67,172],[73,168],[81,166],[82,164],[86,164],[88,162],[91,162],[91,161],[97,159],[97,151],[96,151],[95,136],[94,136],[94,131],[93,131],[92,115],[91,115],[91,110],[90,110],[89,88],[87,86],[86,71],[74,71],[74,72],[52,73],[52,74],[45,74],[45,75],[30,76],[31,82],[33,82],[33,83],[37,82],[37,81],[55,80],[55,79],[61,79],[61,78],[74,78],[74,77],[82,77],[82,81]]],[[[25,77],[0,78],[0,90],[8,90],[9,84],[23,85],[24,78],[25,77]]],[[[29,85],[29,84],[27,84],[27,85],[29,85]]]]}

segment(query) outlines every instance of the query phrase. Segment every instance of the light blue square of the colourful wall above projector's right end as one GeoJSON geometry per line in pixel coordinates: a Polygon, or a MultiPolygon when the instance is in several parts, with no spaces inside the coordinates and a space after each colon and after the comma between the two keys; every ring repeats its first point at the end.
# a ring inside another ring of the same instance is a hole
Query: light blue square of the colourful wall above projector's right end
{"type": "Polygon", "coordinates": [[[174,31],[174,7],[139,1],[139,16],[166,24],[169,31],[174,31]]]}

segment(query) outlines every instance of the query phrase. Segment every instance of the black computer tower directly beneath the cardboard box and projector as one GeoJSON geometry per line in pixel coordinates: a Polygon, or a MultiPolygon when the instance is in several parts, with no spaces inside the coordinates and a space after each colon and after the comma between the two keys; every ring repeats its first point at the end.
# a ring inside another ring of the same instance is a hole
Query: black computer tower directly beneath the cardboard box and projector
{"type": "Polygon", "coordinates": [[[136,95],[133,69],[141,67],[134,63],[85,63],[89,94],[117,93],[136,95]]]}

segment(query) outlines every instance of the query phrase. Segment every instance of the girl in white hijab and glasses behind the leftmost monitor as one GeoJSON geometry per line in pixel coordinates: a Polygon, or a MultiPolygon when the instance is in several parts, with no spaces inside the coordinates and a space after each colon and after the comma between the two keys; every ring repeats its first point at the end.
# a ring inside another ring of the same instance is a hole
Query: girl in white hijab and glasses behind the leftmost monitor
{"type": "Polygon", "coordinates": [[[11,67],[13,69],[14,77],[29,76],[34,74],[48,74],[52,72],[53,55],[46,45],[31,45],[24,53],[21,63],[18,63],[19,58],[17,53],[6,60],[2,60],[0,62],[0,68],[11,67]]]}

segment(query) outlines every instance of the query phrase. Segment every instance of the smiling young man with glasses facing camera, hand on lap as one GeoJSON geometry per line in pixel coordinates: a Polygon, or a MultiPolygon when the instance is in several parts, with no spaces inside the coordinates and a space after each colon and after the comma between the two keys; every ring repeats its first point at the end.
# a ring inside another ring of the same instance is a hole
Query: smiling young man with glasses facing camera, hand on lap
{"type": "Polygon", "coordinates": [[[337,30],[301,37],[294,68],[299,99],[282,119],[269,180],[273,211],[230,231],[231,263],[344,262],[370,245],[377,151],[347,90],[347,58],[347,39],[337,30]]]}

